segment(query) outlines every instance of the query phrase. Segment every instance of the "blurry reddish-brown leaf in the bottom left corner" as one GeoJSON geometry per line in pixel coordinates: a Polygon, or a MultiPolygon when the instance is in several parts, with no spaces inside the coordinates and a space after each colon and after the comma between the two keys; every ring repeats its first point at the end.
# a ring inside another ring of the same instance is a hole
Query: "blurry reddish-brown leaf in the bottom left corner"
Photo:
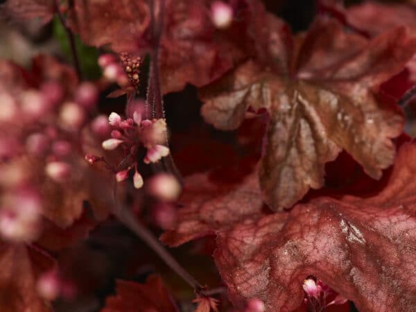
{"type": "Polygon", "coordinates": [[[40,270],[51,266],[51,260],[21,244],[0,242],[0,306],[2,312],[48,312],[49,306],[36,291],[40,270]],[[33,261],[30,253],[35,253],[33,261]],[[40,264],[38,266],[37,264],[40,264]]]}

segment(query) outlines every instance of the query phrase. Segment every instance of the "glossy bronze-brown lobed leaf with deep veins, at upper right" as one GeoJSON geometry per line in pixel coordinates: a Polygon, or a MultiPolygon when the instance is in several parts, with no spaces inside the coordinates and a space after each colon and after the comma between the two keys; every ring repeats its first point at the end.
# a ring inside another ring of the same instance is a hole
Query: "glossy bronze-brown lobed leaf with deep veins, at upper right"
{"type": "MultiPolygon", "coordinates": [[[[271,32],[270,40],[277,35],[271,32]]],[[[279,59],[269,58],[266,65],[249,60],[200,93],[202,116],[222,130],[239,127],[249,107],[267,110],[259,177],[263,198],[274,210],[291,207],[310,187],[322,187],[324,164],[342,149],[368,175],[381,177],[395,154],[390,139],[401,133],[404,120],[377,101],[374,91],[416,49],[404,28],[367,41],[331,19],[318,19],[297,39],[297,58],[286,64],[289,77],[281,76],[279,59]]],[[[276,41],[270,55],[279,55],[276,41]]]]}

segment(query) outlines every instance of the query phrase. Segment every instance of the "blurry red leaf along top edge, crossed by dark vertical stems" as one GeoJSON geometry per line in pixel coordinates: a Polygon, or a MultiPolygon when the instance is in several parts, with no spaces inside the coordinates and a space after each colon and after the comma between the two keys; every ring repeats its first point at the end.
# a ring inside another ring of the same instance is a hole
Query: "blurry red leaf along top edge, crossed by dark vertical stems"
{"type": "MultiPolygon", "coordinates": [[[[225,30],[211,21],[213,2],[166,1],[159,58],[164,94],[180,91],[187,83],[207,85],[253,52],[248,1],[235,1],[239,20],[225,30]]],[[[265,16],[261,2],[251,2],[250,6],[259,7],[257,18],[265,16]]],[[[76,0],[69,25],[87,44],[110,45],[117,53],[144,55],[151,49],[148,1],[123,0],[114,6],[112,1],[76,0]]]]}

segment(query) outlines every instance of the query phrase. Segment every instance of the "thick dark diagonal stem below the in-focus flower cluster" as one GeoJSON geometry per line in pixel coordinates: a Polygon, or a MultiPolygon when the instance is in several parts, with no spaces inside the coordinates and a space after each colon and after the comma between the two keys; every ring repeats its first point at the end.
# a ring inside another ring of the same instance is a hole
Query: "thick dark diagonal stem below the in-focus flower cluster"
{"type": "Polygon", "coordinates": [[[169,268],[176,272],[177,275],[182,277],[184,281],[189,284],[196,292],[200,292],[202,286],[198,283],[192,275],[185,270],[180,263],[178,263],[172,256],[167,252],[167,250],[159,243],[159,241],[153,236],[153,234],[141,225],[135,219],[135,216],[131,213],[130,210],[125,208],[116,208],[113,211],[113,214],[119,218],[121,223],[128,227],[132,232],[134,232],[140,239],[142,239],[165,263],[169,268]]]}

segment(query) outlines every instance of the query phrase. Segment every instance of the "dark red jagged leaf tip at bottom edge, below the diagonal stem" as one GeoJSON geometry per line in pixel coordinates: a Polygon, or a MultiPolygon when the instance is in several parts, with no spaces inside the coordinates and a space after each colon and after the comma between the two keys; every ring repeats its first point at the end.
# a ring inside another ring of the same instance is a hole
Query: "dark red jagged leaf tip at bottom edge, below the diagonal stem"
{"type": "Polygon", "coordinates": [[[108,297],[101,312],[178,312],[162,279],[150,275],[146,284],[117,281],[117,295],[108,297]]]}

